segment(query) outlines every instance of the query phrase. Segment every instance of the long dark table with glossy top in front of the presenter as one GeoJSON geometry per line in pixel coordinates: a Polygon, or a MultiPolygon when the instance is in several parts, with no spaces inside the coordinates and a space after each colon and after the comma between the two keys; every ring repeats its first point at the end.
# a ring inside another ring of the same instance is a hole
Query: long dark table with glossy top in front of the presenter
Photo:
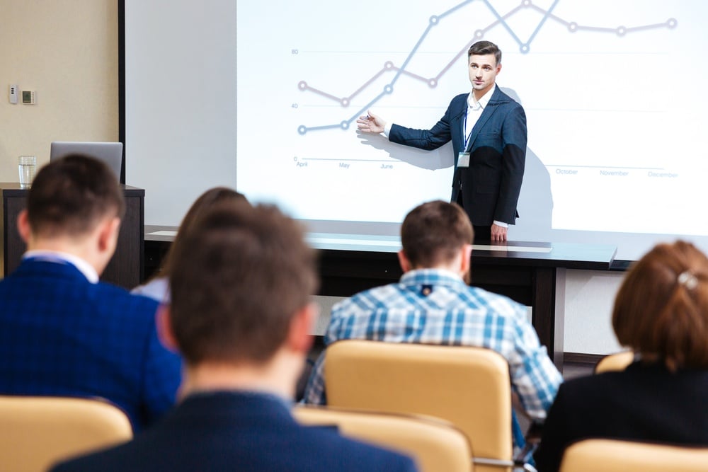
{"type": "MultiPolygon", "coordinates": [[[[145,226],[146,260],[159,267],[173,236],[149,234],[175,231],[174,226],[145,226]]],[[[565,276],[567,269],[610,270],[617,248],[598,244],[525,243],[475,245],[472,284],[532,307],[532,324],[556,367],[563,366],[565,276]]],[[[394,252],[320,250],[320,295],[350,297],[357,292],[399,280],[394,252]]]]}

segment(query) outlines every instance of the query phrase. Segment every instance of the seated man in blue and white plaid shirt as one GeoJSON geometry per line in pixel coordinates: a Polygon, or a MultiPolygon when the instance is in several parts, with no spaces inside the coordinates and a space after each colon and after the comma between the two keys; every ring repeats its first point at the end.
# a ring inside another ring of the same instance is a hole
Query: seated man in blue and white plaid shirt
{"type": "MultiPolygon", "coordinates": [[[[406,216],[400,282],[360,292],[332,309],[326,345],[336,340],[467,345],[499,352],[526,413],[543,420],[561,375],[539,345],[526,307],[469,287],[472,225],[459,205],[428,202],[406,216]]],[[[326,403],[323,353],[305,390],[306,403],[326,403]]]]}

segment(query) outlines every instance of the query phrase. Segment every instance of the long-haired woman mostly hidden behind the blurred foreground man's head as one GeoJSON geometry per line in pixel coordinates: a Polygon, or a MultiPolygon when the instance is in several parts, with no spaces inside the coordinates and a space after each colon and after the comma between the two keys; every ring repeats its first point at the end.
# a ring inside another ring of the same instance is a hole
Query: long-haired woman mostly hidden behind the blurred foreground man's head
{"type": "Polygon", "coordinates": [[[185,229],[190,228],[194,222],[197,221],[197,217],[199,217],[205,209],[211,207],[215,203],[227,201],[248,202],[242,193],[236,192],[236,190],[232,190],[227,187],[210,188],[206,192],[202,193],[202,195],[194,201],[192,206],[184,215],[182,223],[179,225],[177,236],[175,236],[175,240],[170,246],[169,251],[167,251],[164,262],[158,274],[152,277],[152,279],[150,279],[146,284],[138,285],[135,289],[132,289],[132,293],[144,295],[145,297],[150,297],[163,303],[169,303],[170,288],[168,280],[170,274],[172,273],[173,254],[175,253],[176,248],[179,248],[182,244],[181,235],[184,233],[185,229]]]}

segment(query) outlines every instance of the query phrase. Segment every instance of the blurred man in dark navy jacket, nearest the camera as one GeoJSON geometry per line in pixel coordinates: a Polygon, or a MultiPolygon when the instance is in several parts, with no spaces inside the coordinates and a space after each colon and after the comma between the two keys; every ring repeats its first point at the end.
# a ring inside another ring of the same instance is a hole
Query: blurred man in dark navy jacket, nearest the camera
{"type": "Polygon", "coordinates": [[[69,471],[411,471],[411,459],[290,415],[312,343],[314,253],[274,207],[222,202],[173,253],[164,339],[186,363],[181,404],[69,471]]]}

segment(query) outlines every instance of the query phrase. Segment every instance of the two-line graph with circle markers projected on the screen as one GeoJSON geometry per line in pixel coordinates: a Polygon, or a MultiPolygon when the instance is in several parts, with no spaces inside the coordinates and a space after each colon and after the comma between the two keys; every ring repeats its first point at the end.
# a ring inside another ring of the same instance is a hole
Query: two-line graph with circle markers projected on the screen
{"type": "Polygon", "coordinates": [[[518,6],[515,6],[512,8],[510,11],[507,13],[501,14],[496,11],[496,9],[493,7],[491,4],[491,1],[489,0],[464,0],[460,2],[459,4],[453,6],[449,10],[445,11],[444,13],[440,13],[439,15],[433,15],[430,16],[428,19],[428,25],[426,29],[423,31],[423,34],[421,37],[418,39],[416,42],[416,45],[413,46],[411,49],[411,52],[406,56],[406,59],[404,62],[399,66],[394,64],[392,61],[387,61],[384,63],[384,67],[382,67],[381,70],[379,70],[376,74],[374,74],[370,79],[367,79],[363,84],[361,84],[358,88],[355,89],[355,91],[351,92],[348,94],[348,96],[345,97],[338,97],[334,96],[332,93],[328,93],[324,90],[321,90],[319,88],[316,88],[314,86],[311,86],[310,84],[307,83],[307,81],[299,81],[297,84],[297,88],[302,91],[302,92],[308,92],[308,93],[313,93],[315,95],[328,98],[329,100],[332,100],[333,102],[338,103],[341,105],[342,108],[348,108],[349,105],[352,103],[352,100],[359,96],[360,93],[365,91],[373,82],[375,82],[379,77],[383,76],[384,74],[388,74],[393,72],[394,76],[391,79],[391,81],[386,84],[383,88],[383,90],[374,98],[372,98],[366,105],[362,106],[359,110],[356,111],[356,113],[353,113],[348,117],[346,120],[342,120],[341,122],[338,122],[336,124],[332,125],[321,125],[321,126],[306,126],[306,125],[300,125],[297,127],[297,132],[299,134],[306,134],[307,132],[310,131],[319,131],[323,129],[342,129],[346,130],[349,129],[350,125],[354,120],[357,119],[362,113],[364,113],[366,110],[368,110],[372,105],[375,105],[379,100],[381,100],[384,96],[387,96],[391,93],[394,93],[394,85],[396,82],[401,78],[401,76],[406,76],[409,79],[413,79],[416,81],[422,81],[428,84],[430,88],[435,88],[438,86],[440,79],[442,76],[444,76],[447,71],[450,70],[453,64],[457,62],[457,60],[462,57],[462,54],[467,52],[469,47],[472,45],[472,43],[479,41],[484,38],[486,33],[489,32],[489,30],[492,30],[493,28],[496,28],[498,26],[501,26],[506,30],[506,32],[513,38],[513,40],[517,43],[519,47],[519,51],[522,54],[528,54],[531,50],[531,44],[533,40],[536,38],[537,34],[539,31],[543,28],[544,24],[547,23],[547,21],[554,21],[556,23],[559,23],[561,25],[564,25],[569,31],[569,33],[578,33],[581,31],[589,31],[589,32],[594,32],[594,33],[609,33],[609,34],[614,34],[617,35],[618,37],[622,37],[624,35],[636,33],[639,31],[645,31],[645,30],[656,30],[659,28],[666,28],[666,29],[673,29],[676,28],[678,25],[678,21],[675,18],[668,18],[666,21],[663,21],[661,23],[653,23],[649,25],[634,25],[634,26],[626,26],[626,25],[619,25],[615,27],[608,27],[608,26],[597,26],[597,25],[583,25],[580,23],[577,23],[576,21],[568,21],[564,18],[560,18],[559,16],[554,15],[553,11],[556,8],[556,5],[559,3],[560,0],[555,0],[553,4],[549,8],[542,8],[540,6],[537,6],[533,3],[532,0],[522,0],[518,6]],[[435,28],[437,25],[440,25],[440,23],[445,20],[447,16],[452,15],[453,13],[457,13],[457,11],[464,7],[467,6],[468,4],[471,4],[473,1],[481,1],[484,3],[484,5],[489,8],[489,11],[492,13],[493,17],[496,18],[495,21],[490,23],[489,25],[486,25],[484,28],[480,28],[474,31],[474,35],[471,40],[469,40],[463,47],[459,49],[457,54],[455,54],[452,59],[450,59],[447,64],[445,64],[445,67],[440,69],[438,71],[438,74],[435,74],[435,76],[430,76],[430,77],[424,77],[421,76],[420,74],[415,74],[411,71],[409,71],[407,68],[409,66],[409,62],[411,59],[416,55],[416,52],[418,52],[418,49],[421,47],[423,42],[426,40],[426,37],[430,33],[433,28],[435,28]],[[519,38],[518,34],[511,28],[510,24],[508,21],[510,18],[513,18],[517,13],[524,9],[532,9],[533,11],[536,11],[537,13],[540,13],[542,15],[542,18],[540,19],[539,23],[536,25],[535,29],[532,31],[530,34],[529,38],[527,40],[522,40],[519,38]]]}

